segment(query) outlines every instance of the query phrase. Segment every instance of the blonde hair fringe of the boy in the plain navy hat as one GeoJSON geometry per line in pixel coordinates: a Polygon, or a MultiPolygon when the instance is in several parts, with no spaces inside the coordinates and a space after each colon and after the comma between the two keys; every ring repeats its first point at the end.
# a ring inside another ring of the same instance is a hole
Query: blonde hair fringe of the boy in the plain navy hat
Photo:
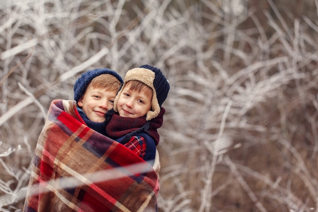
{"type": "Polygon", "coordinates": [[[101,74],[93,78],[89,83],[93,88],[105,88],[110,92],[118,92],[121,83],[111,74],[101,74]]]}

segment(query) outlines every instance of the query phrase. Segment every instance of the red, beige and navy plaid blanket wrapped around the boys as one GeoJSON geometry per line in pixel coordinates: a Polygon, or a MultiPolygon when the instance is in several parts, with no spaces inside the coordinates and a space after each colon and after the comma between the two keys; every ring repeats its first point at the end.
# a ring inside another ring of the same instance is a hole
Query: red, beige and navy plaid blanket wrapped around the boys
{"type": "Polygon", "coordinates": [[[155,211],[158,155],[151,167],[88,128],[75,101],[54,100],[40,134],[24,211],[155,211]]]}

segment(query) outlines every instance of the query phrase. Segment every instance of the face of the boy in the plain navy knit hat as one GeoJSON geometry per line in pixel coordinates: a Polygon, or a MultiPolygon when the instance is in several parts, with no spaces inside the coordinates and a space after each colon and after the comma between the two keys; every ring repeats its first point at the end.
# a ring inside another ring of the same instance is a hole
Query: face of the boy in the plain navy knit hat
{"type": "Polygon", "coordinates": [[[78,106],[92,122],[105,122],[105,113],[114,107],[115,91],[109,91],[105,88],[93,88],[90,84],[84,95],[77,102],[78,106]]]}

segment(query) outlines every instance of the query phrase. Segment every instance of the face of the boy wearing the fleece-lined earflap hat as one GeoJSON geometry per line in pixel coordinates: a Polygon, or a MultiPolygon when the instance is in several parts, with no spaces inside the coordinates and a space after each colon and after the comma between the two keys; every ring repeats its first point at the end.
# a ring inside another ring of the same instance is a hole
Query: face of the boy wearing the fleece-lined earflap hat
{"type": "Polygon", "coordinates": [[[117,109],[120,116],[138,118],[146,115],[151,108],[152,94],[141,90],[139,93],[127,84],[119,96],[117,109]]]}

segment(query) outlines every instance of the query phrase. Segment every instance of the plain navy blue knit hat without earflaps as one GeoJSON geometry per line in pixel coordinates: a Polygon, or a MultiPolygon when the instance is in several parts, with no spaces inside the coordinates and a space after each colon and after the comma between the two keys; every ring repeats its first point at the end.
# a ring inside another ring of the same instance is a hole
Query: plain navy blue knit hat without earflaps
{"type": "Polygon", "coordinates": [[[79,99],[83,96],[83,94],[85,93],[86,87],[88,86],[90,81],[101,74],[111,74],[114,77],[116,77],[121,84],[123,83],[122,78],[113,70],[105,68],[105,69],[94,69],[94,70],[87,71],[83,73],[81,77],[76,80],[74,84],[74,100],[76,102],[78,102],[79,99]]]}

